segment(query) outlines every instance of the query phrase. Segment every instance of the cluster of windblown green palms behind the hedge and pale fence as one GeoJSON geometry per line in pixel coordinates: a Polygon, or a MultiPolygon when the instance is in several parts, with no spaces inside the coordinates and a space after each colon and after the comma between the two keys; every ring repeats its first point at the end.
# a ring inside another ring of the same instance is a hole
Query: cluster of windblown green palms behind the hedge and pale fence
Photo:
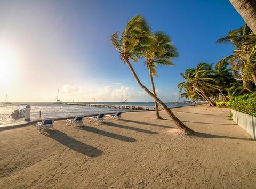
{"type": "Polygon", "coordinates": [[[230,31],[217,43],[231,43],[236,49],[215,66],[199,63],[181,73],[185,81],[178,84],[180,97],[190,98],[194,105],[196,99],[204,99],[212,106],[226,106],[218,103],[219,94],[227,102],[256,89],[256,36],[247,24],[230,31]]]}

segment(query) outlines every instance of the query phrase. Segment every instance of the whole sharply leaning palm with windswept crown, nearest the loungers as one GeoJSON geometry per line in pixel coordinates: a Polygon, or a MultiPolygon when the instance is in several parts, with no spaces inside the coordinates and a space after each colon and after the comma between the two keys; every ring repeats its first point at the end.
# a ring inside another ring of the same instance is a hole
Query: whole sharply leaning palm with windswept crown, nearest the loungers
{"type": "Polygon", "coordinates": [[[111,42],[119,52],[121,60],[126,63],[131,70],[138,85],[156,102],[162,105],[166,113],[173,119],[175,125],[181,130],[181,132],[187,135],[194,134],[194,130],[183,124],[183,122],[181,122],[156,95],[151,93],[149,89],[141,83],[130,63],[130,60],[137,62],[138,58],[141,58],[142,54],[149,49],[150,42],[152,41],[150,38],[150,28],[148,27],[145,19],[143,19],[141,15],[136,15],[127,23],[121,36],[119,36],[119,32],[115,32],[111,35],[111,42]]]}

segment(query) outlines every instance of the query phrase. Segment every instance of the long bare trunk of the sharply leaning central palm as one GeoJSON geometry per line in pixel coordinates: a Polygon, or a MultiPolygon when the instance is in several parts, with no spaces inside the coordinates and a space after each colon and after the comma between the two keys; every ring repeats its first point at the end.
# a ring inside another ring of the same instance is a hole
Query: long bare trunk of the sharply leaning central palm
{"type": "Polygon", "coordinates": [[[170,118],[173,120],[174,124],[178,127],[178,129],[181,130],[182,133],[186,134],[186,135],[193,135],[195,134],[194,130],[188,128],[185,124],[183,124],[183,122],[181,122],[175,115],[174,113],[161,101],[159,100],[159,98],[154,95],[153,93],[151,93],[149,91],[149,89],[147,87],[145,87],[139,80],[137,74],[135,73],[135,71],[132,68],[131,63],[129,62],[129,60],[125,60],[126,64],[128,65],[128,67],[130,68],[133,77],[135,78],[135,80],[137,81],[138,85],[146,92],[148,93],[149,96],[151,96],[156,102],[158,102],[160,105],[162,105],[163,109],[166,111],[166,113],[170,116],[170,118]]]}

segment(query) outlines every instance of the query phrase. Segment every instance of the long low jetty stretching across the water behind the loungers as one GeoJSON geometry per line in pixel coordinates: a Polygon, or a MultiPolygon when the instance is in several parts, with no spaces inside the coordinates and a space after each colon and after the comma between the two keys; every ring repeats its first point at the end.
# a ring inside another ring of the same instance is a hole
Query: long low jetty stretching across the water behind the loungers
{"type": "Polygon", "coordinates": [[[67,105],[90,106],[98,108],[114,108],[127,110],[155,110],[153,106],[136,106],[136,105],[115,105],[115,104],[85,104],[85,103],[65,103],[67,105]]]}

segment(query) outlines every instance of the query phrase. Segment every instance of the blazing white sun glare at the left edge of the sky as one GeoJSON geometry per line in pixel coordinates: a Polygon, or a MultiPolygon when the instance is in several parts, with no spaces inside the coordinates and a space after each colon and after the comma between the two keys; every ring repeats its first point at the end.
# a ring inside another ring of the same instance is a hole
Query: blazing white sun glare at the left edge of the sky
{"type": "Polygon", "coordinates": [[[0,87],[13,82],[16,78],[17,66],[15,53],[0,45],[0,87]]]}

